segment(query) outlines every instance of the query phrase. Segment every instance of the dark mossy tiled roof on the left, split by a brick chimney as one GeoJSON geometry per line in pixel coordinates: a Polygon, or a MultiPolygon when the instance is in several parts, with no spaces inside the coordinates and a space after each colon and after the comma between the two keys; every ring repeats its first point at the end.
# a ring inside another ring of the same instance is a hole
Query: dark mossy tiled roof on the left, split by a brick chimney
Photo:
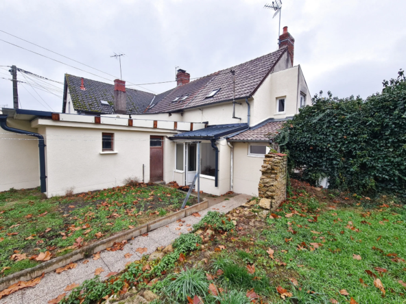
{"type": "MultiPolygon", "coordinates": [[[[65,74],[65,79],[76,111],[113,114],[114,84],[84,78],[86,90],[81,90],[82,77],[65,74]],[[100,101],[107,101],[108,105],[100,101]]],[[[128,114],[143,113],[155,96],[132,88],[126,88],[126,92],[128,114]]]]}

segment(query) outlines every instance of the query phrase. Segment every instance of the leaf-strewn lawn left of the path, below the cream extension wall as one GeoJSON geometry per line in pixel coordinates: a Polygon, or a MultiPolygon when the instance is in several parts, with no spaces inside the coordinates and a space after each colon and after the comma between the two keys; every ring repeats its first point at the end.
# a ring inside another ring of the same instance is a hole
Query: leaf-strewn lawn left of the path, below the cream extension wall
{"type": "Polygon", "coordinates": [[[1,277],[174,212],[184,197],[145,183],[51,199],[38,189],[0,192],[1,277]]]}

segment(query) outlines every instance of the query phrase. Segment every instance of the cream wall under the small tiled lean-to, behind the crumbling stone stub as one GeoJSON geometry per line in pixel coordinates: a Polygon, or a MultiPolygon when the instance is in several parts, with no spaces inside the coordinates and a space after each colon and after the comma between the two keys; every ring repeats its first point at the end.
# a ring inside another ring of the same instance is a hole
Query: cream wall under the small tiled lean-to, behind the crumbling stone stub
{"type": "Polygon", "coordinates": [[[258,197],[262,157],[248,156],[247,142],[232,142],[234,146],[233,190],[236,193],[258,197]]]}

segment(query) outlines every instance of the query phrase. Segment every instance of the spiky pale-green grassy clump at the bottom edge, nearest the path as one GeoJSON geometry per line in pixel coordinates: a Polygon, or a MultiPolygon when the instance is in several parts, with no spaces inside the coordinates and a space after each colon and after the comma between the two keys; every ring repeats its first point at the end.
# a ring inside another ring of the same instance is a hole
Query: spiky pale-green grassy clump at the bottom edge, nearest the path
{"type": "Polygon", "coordinates": [[[205,297],[208,294],[208,281],[203,270],[190,268],[176,275],[168,276],[165,281],[169,282],[165,293],[182,303],[187,301],[187,296],[205,297]]]}

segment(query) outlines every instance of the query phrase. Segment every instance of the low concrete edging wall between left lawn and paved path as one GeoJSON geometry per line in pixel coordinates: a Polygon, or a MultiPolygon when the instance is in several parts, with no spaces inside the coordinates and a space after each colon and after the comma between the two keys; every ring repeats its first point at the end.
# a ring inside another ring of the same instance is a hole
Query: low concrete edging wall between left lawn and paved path
{"type": "Polygon", "coordinates": [[[141,236],[141,234],[143,233],[147,233],[159,227],[174,223],[176,220],[180,220],[181,218],[189,216],[194,212],[199,212],[207,208],[208,201],[207,199],[204,199],[202,203],[198,203],[191,207],[187,207],[186,209],[179,210],[178,212],[174,212],[172,214],[169,214],[168,216],[164,216],[163,218],[157,218],[156,220],[152,220],[151,222],[139,227],[135,227],[134,229],[122,231],[104,240],[99,240],[97,242],[94,242],[93,244],[83,246],[81,249],[77,249],[75,251],[72,251],[71,253],[67,253],[66,255],[56,257],[55,259],[50,259],[49,261],[41,263],[38,266],[24,269],[19,271],[18,273],[13,273],[12,275],[3,277],[0,279],[0,291],[8,288],[18,281],[27,281],[30,279],[34,279],[35,277],[39,277],[43,273],[50,273],[51,271],[56,270],[56,268],[66,266],[71,262],[75,262],[85,257],[90,257],[91,255],[93,255],[93,253],[103,251],[108,247],[112,247],[112,244],[114,244],[115,242],[122,242],[123,240],[136,238],[137,236],[141,236]]]}

